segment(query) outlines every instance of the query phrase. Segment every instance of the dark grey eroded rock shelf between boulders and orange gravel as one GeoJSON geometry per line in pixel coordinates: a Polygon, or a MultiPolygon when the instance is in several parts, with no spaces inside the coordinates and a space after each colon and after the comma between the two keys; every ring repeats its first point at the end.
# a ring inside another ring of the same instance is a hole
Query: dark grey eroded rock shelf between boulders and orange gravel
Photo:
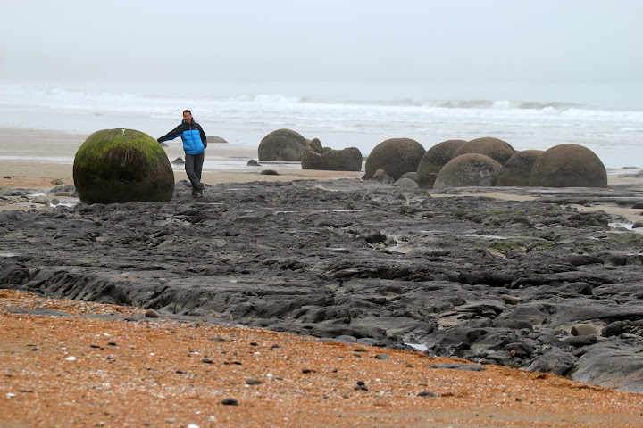
{"type": "Polygon", "coordinates": [[[429,197],[346,179],[213,185],[194,200],[182,181],[170,203],[5,211],[0,288],[422,344],[643,392],[643,235],[566,205],[641,191],[507,192],[541,197],[429,197]],[[597,334],[574,336],[574,325],[597,334]]]}

